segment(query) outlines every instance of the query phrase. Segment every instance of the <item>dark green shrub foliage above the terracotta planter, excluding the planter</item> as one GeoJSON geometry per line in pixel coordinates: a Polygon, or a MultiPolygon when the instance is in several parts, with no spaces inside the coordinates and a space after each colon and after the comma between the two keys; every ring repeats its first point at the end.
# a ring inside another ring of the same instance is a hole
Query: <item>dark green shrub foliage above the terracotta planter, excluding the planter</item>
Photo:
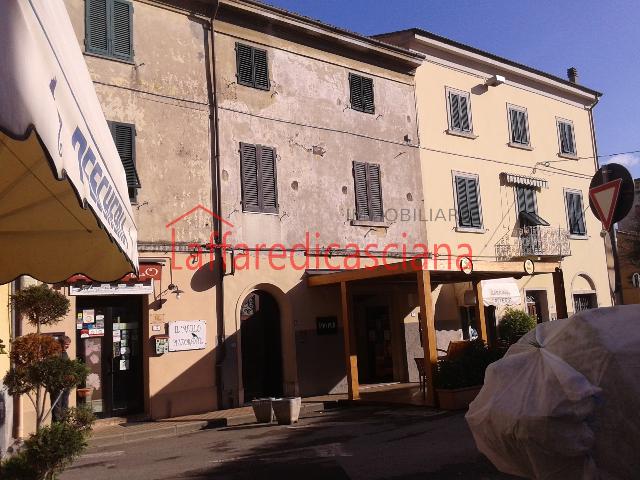
{"type": "Polygon", "coordinates": [[[436,388],[456,389],[482,385],[487,367],[503,354],[502,350],[487,347],[481,339],[471,341],[459,357],[438,362],[436,388]]]}

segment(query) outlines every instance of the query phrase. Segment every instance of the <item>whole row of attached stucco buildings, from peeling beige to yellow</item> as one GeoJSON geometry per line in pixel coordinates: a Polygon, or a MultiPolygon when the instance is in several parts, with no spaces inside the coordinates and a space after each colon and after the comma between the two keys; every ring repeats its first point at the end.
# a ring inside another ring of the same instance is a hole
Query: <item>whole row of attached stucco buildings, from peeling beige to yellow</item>
{"type": "Polygon", "coordinates": [[[481,280],[517,278],[541,321],[610,305],[599,226],[578,215],[597,92],[253,0],[66,5],[138,225],[139,277],[55,286],[72,308],[49,333],[92,369],[100,415],[415,382],[470,326],[491,341],[481,280]]]}

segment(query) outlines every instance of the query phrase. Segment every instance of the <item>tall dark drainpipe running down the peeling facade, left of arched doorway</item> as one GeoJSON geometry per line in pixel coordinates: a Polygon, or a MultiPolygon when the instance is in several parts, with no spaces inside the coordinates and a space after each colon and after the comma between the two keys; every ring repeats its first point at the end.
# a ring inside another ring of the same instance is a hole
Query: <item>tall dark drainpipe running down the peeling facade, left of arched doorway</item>
{"type": "MultiPolygon", "coordinates": [[[[218,13],[218,7],[220,2],[216,0],[211,12],[211,20],[209,22],[209,36],[207,39],[207,58],[209,68],[207,69],[207,94],[209,100],[209,118],[211,124],[211,132],[213,138],[211,139],[211,158],[212,158],[212,191],[211,191],[211,203],[213,211],[216,216],[214,218],[214,230],[218,232],[218,238],[216,243],[220,243],[223,237],[223,223],[222,223],[222,194],[220,192],[220,135],[219,135],[219,123],[218,123],[218,93],[217,93],[217,79],[216,79],[216,62],[215,62],[215,27],[214,21],[218,13]]],[[[215,377],[216,377],[216,400],[218,403],[218,409],[225,406],[224,397],[224,381],[223,381],[223,366],[226,358],[226,334],[224,325],[224,258],[222,257],[223,250],[221,248],[215,248],[215,263],[216,271],[218,273],[218,292],[216,294],[216,330],[217,330],[217,345],[216,345],[216,363],[215,363],[215,377]]]]}

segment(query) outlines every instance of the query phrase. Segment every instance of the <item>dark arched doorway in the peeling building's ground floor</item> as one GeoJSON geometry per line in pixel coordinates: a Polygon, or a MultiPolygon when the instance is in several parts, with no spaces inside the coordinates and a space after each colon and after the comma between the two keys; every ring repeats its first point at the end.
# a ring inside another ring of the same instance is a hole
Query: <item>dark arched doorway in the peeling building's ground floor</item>
{"type": "Polygon", "coordinates": [[[240,309],[244,401],[282,396],[280,310],[267,292],[251,292],[240,309]]]}

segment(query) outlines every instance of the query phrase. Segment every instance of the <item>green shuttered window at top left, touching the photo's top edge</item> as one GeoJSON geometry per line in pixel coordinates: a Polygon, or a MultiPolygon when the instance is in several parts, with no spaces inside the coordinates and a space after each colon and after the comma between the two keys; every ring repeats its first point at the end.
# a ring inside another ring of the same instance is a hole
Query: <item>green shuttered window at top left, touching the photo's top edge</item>
{"type": "Polygon", "coordinates": [[[85,0],[85,48],[133,60],[133,5],[127,0],[85,0]]]}

